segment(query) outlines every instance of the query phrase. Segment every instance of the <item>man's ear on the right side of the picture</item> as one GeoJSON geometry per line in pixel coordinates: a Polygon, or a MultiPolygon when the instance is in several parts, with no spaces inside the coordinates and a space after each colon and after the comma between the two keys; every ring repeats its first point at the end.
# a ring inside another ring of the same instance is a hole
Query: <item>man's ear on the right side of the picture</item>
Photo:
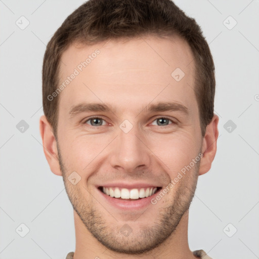
{"type": "Polygon", "coordinates": [[[211,122],[206,127],[206,133],[202,141],[202,154],[200,162],[199,175],[205,174],[211,167],[212,161],[217,151],[217,140],[219,137],[218,130],[219,116],[213,116],[211,122]]]}

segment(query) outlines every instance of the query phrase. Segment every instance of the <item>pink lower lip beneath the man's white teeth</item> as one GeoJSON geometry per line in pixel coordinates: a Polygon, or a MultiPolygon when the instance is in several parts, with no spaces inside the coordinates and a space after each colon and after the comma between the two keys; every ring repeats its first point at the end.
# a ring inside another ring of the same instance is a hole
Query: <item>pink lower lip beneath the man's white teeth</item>
{"type": "Polygon", "coordinates": [[[151,200],[159,193],[156,192],[153,195],[146,197],[146,198],[141,198],[141,199],[132,199],[132,200],[123,200],[123,199],[118,199],[118,198],[113,198],[105,193],[103,193],[101,190],[98,189],[98,191],[101,193],[101,195],[105,198],[107,202],[109,202],[111,205],[122,209],[122,210],[136,210],[136,209],[142,209],[148,206],[151,203],[151,200]]]}

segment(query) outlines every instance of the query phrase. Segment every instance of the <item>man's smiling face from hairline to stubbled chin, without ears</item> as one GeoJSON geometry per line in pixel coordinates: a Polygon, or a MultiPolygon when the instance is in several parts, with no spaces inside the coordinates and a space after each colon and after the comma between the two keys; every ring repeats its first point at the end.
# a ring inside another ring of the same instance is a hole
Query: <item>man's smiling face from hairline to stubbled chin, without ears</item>
{"type": "Polygon", "coordinates": [[[62,56],[60,84],[75,74],[59,94],[66,191],[113,251],[157,247],[190,206],[202,148],[192,60],[178,37],[74,44],[62,56]]]}

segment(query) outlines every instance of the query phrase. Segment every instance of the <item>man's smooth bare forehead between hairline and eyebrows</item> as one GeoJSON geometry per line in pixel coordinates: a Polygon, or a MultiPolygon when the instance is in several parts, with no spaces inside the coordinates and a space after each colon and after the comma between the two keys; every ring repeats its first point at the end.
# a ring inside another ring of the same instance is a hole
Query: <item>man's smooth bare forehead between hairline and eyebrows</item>
{"type": "Polygon", "coordinates": [[[74,43],[61,58],[60,106],[68,111],[82,102],[115,101],[114,106],[128,109],[131,100],[141,107],[163,100],[195,110],[193,59],[188,43],[177,36],[74,43]]]}

